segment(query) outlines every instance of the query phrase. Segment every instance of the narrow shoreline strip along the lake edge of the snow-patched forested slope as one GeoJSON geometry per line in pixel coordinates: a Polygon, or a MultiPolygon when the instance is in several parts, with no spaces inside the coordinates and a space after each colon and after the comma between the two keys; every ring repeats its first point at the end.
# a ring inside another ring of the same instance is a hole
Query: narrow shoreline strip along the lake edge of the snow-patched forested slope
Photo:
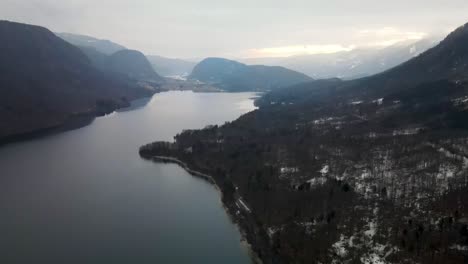
{"type": "Polygon", "coordinates": [[[224,193],[223,193],[222,189],[219,187],[218,183],[216,183],[216,180],[213,178],[213,176],[208,175],[206,173],[196,171],[194,169],[191,169],[190,166],[187,163],[185,163],[185,162],[183,162],[180,159],[175,158],[175,157],[151,156],[151,157],[143,157],[143,158],[151,160],[152,162],[155,162],[155,163],[165,163],[165,164],[166,163],[172,163],[172,164],[176,164],[176,165],[180,166],[182,169],[184,169],[191,176],[203,179],[203,180],[207,181],[208,183],[212,184],[215,187],[215,189],[218,190],[218,192],[220,194],[221,204],[222,204],[224,210],[226,211],[227,215],[229,216],[229,219],[231,219],[232,223],[239,230],[239,233],[240,233],[240,236],[241,236],[241,240],[239,241],[239,243],[242,246],[245,246],[247,248],[248,254],[249,254],[249,257],[252,260],[252,263],[254,263],[254,264],[263,264],[263,261],[259,257],[258,253],[254,250],[251,241],[249,241],[249,239],[248,239],[247,230],[244,230],[242,228],[242,225],[241,225],[241,220],[242,219],[240,219],[238,217],[236,218],[236,214],[234,214],[229,209],[230,206],[223,202],[224,193]]]}

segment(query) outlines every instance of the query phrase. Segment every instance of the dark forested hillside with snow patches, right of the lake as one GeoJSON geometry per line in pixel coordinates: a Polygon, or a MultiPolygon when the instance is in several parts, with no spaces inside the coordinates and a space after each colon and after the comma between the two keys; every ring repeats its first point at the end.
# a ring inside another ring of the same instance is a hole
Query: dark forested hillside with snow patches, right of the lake
{"type": "Polygon", "coordinates": [[[467,37],[366,79],[272,92],[140,154],[212,175],[265,263],[466,263],[467,37]]]}

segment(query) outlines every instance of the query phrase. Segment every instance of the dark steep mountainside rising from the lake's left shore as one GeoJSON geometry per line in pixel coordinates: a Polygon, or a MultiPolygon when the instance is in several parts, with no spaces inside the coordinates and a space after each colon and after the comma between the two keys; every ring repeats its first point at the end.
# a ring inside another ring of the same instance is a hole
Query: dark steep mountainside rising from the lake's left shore
{"type": "Polygon", "coordinates": [[[49,30],[0,21],[0,140],[104,114],[154,90],[92,66],[49,30]]]}

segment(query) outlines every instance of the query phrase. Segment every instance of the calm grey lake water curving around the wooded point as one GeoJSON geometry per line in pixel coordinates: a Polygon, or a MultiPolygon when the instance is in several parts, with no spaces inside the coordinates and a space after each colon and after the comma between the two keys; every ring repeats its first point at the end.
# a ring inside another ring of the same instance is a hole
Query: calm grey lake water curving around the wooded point
{"type": "Polygon", "coordinates": [[[167,92],[0,148],[0,263],[250,263],[216,189],[138,148],[254,109],[252,93],[167,92]]]}

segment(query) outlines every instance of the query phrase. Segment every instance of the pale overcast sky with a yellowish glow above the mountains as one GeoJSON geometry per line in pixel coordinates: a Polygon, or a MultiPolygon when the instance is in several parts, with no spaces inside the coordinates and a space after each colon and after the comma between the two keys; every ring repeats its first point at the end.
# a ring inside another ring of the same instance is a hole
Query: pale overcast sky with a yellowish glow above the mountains
{"type": "Polygon", "coordinates": [[[0,0],[0,19],[109,39],[146,54],[323,53],[445,34],[468,0],[0,0]]]}

